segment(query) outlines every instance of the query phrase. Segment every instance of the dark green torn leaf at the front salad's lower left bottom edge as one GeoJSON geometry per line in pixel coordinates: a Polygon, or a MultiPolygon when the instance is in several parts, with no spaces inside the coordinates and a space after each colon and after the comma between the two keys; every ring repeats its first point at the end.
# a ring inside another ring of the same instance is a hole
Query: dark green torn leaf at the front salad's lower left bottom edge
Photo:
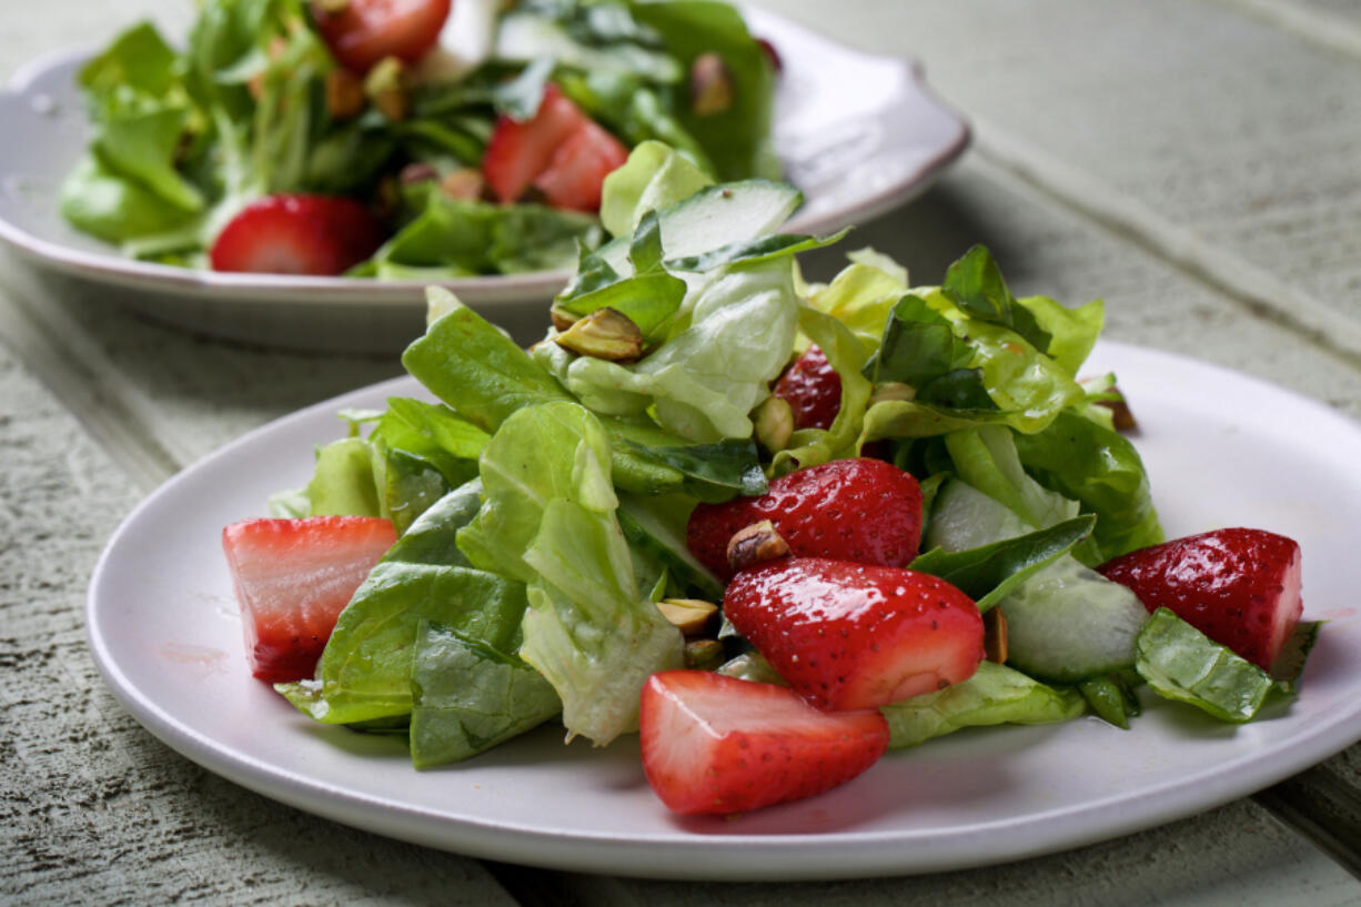
{"type": "Polygon", "coordinates": [[[411,761],[460,761],[557,715],[558,695],[539,671],[441,624],[421,621],[411,669],[411,761]]]}

